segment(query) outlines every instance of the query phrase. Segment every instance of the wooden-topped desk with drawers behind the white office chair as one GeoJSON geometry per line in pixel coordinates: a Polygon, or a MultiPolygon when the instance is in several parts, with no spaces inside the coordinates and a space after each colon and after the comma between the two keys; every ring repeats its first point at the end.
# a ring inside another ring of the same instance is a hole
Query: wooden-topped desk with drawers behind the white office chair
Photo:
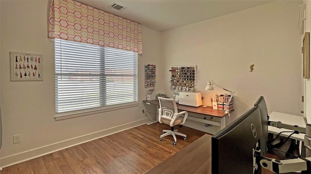
{"type": "MultiPolygon", "coordinates": [[[[158,100],[144,100],[143,102],[146,104],[155,104],[159,106],[158,100]]],[[[226,120],[226,118],[228,118],[228,114],[225,113],[225,111],[215,110],[211,106],[193,107],[177,104],[177,109],[188,112],[187,120],[193,120],[201,123],[219,126],[220,129],[224,129],[226,126],[226,122],[228,122],[228,120],[226,120]]],[[[156,116],[156,122],[158,122],[158,116],[156,116]]]]}

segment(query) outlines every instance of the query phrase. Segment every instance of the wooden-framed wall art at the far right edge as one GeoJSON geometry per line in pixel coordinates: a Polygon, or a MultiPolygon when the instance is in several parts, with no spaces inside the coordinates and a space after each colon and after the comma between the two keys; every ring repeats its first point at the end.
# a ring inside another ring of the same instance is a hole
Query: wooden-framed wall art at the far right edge
{"type": "Polygon", "coordinates": [[[302,49],[303,78],[310,79],[310,32],[305,32],[302,49]]]}

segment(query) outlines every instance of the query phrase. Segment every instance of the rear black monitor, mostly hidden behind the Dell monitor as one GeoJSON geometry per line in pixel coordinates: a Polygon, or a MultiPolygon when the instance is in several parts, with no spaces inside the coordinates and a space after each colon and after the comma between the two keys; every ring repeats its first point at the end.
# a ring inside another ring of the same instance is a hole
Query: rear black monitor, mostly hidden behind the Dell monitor
{"type": "Polygon", "coordinates": [[[260,138],[260,155],[264,157],[267,153],[267,142],[268,142],[268,109],[266,105],[266,101],[262,96],[259,97],[255,106],[259,107],[260,115],[261,115],[261,124],[262,124],[262,136],[260,138]]]}

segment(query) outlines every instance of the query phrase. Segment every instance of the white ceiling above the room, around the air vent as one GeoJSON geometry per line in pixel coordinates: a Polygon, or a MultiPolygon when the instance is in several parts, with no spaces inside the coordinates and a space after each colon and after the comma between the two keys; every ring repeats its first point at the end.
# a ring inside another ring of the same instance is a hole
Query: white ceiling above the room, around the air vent
{"type": "Polygon", "coordinates": [[[76,0],[142,26],[164,31],[259,6],[274,0],[76,0]],[[126,7],[118,11],[112,3],[126,7]]]}

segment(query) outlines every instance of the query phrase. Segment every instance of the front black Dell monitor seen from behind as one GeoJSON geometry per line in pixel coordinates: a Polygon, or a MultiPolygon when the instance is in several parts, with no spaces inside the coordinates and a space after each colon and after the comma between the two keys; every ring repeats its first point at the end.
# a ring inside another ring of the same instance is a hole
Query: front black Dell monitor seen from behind
{"type": "Polygon", "coordinates": [[[212,174],[253,174],[253,148],[260,144],[261,127],[256,105],[213,135],[212,174]]]}

